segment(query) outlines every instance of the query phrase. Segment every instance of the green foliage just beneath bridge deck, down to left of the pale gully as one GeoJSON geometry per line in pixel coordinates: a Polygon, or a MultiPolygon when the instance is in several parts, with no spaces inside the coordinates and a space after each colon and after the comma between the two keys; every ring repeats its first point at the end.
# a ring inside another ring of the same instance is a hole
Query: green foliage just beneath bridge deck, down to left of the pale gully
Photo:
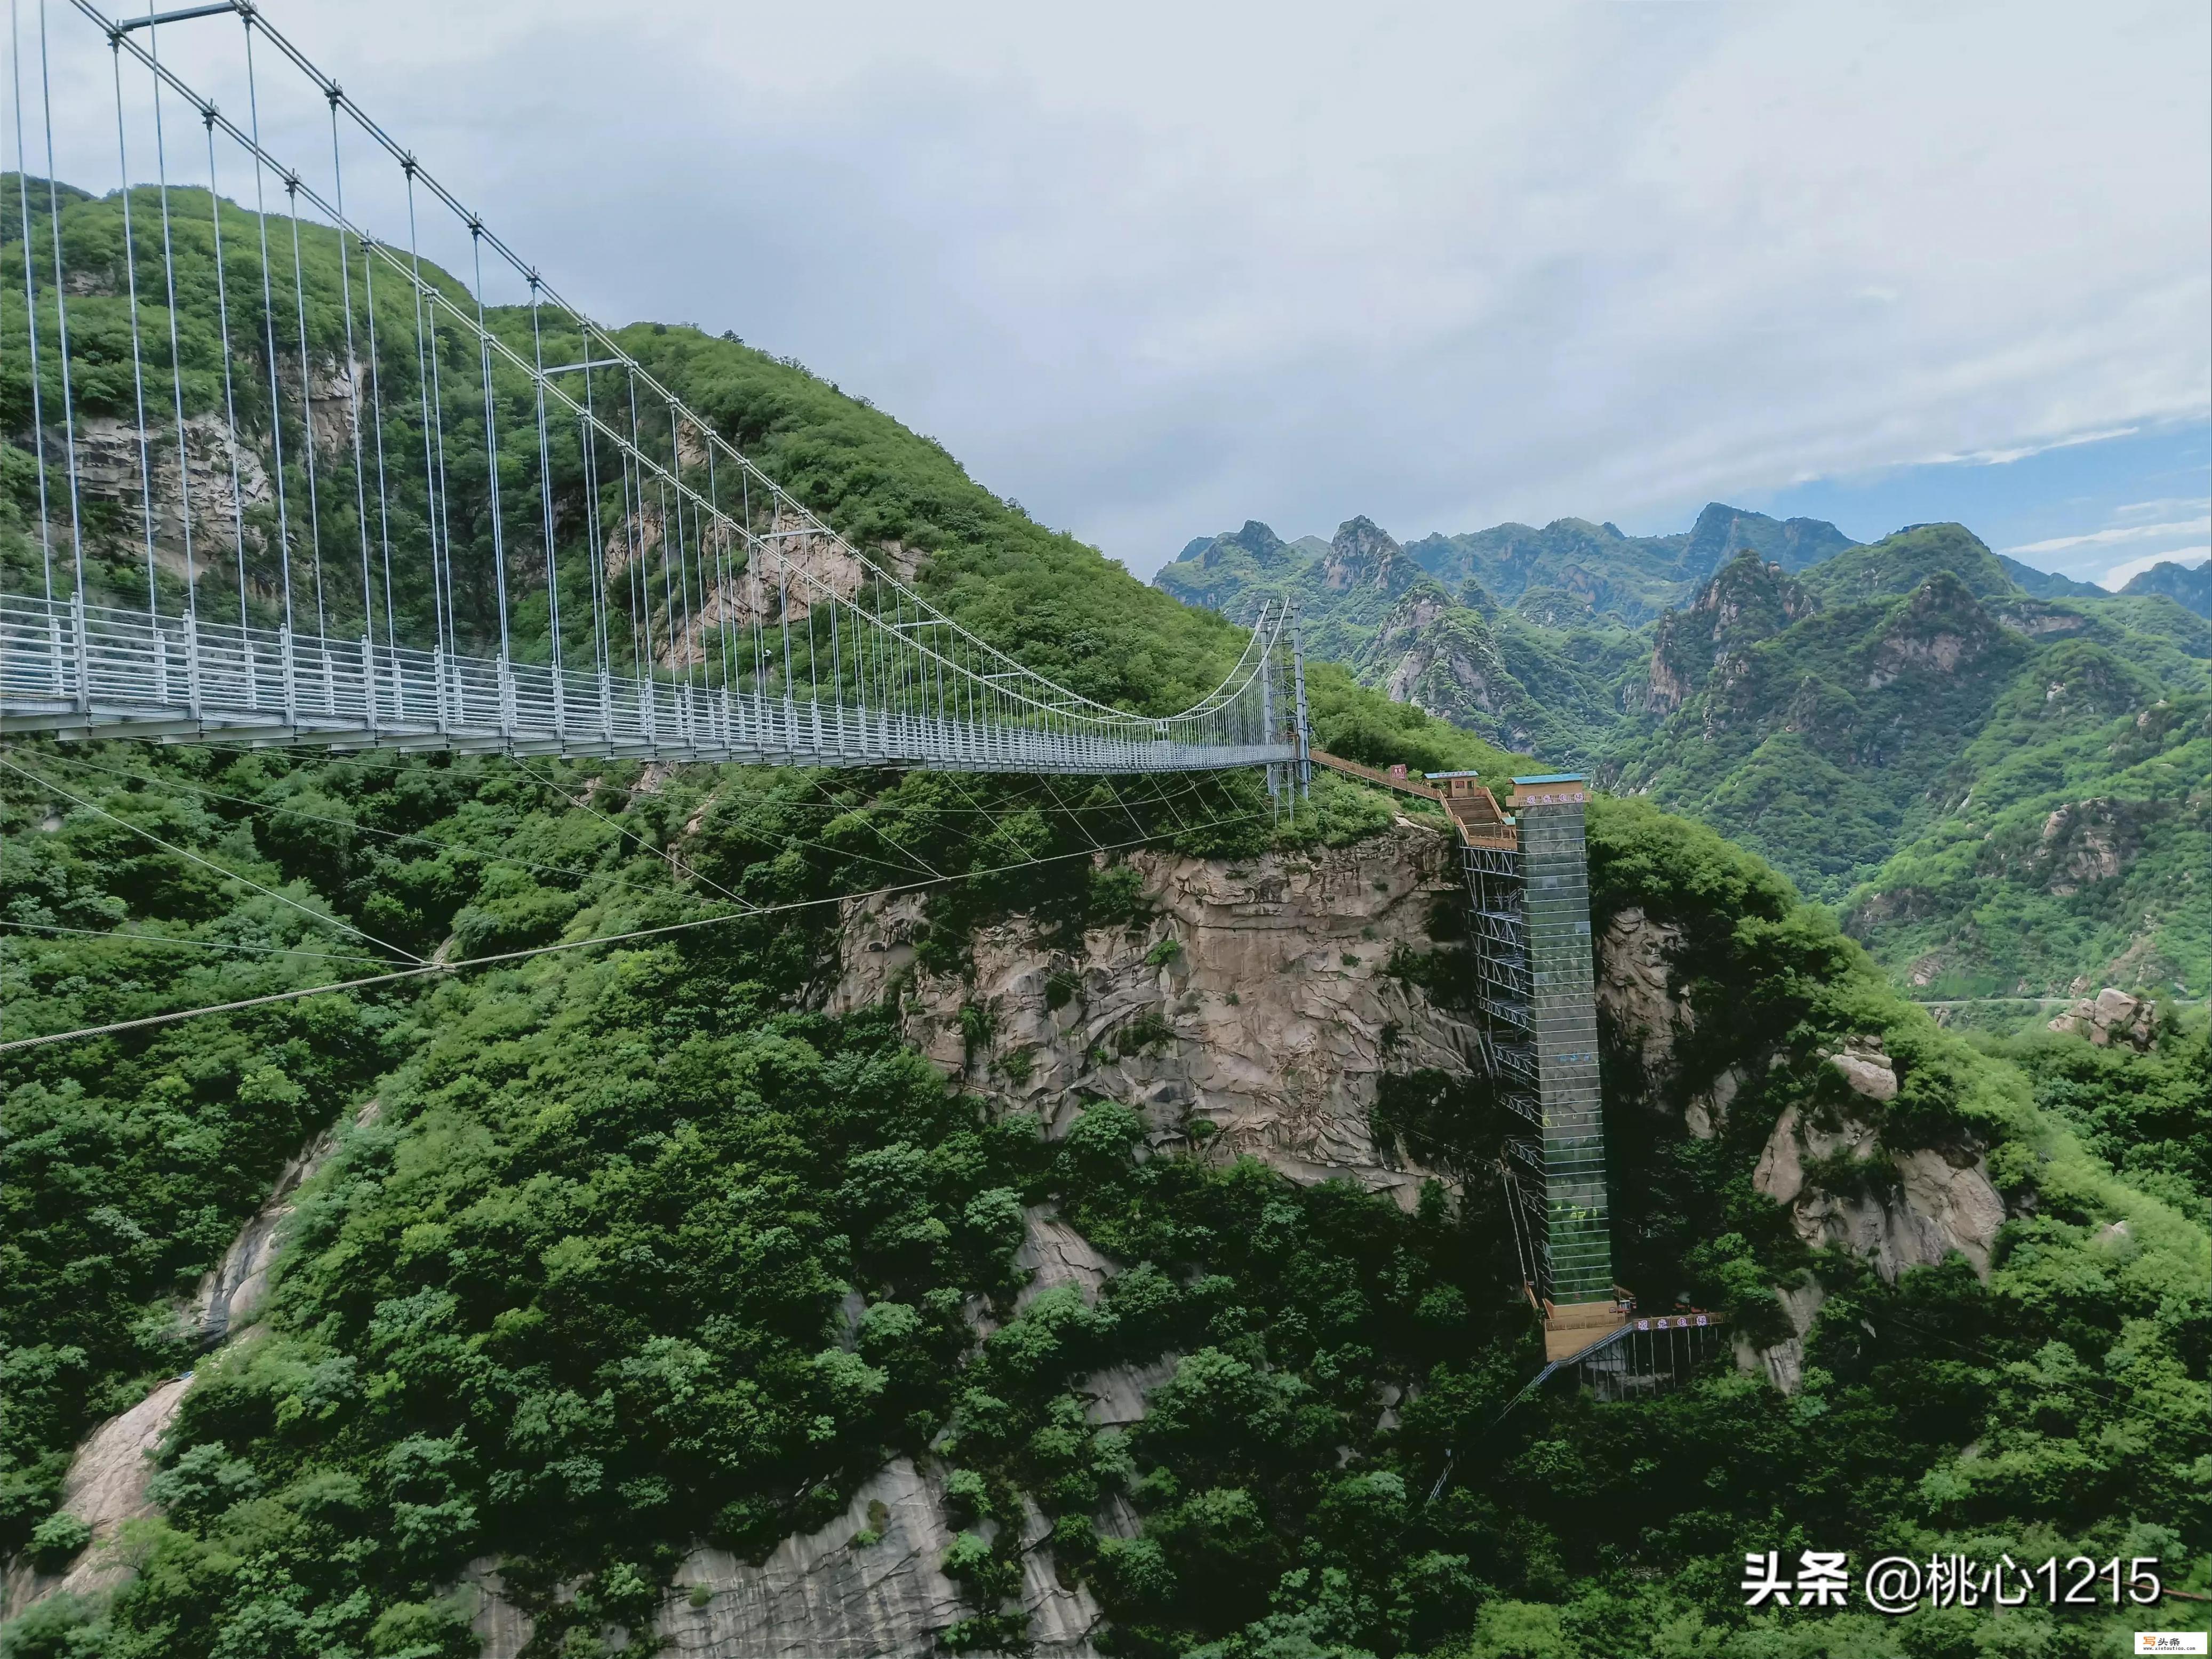
{"type": "MultiPolygon", "coordinates": [[[[1234,854],[1270,834],[1265,796],[1243,776],[1057,794],[929,776],[889,790],[743,770],[641,779],[635,765],[562,781],[491,761],[133,745],[18,748],[11,765],[0,772],[11,1033],[363,978],[394,967],[380,945],[473,958],[1048,860],[949,889],[940,918],[958,938],[969,916],[1037,894],[1073,891],[1062,902],[1079,905],[1095,841],[1166,834],[1234,854]],[[580,787],[591,807],[571,807],[580,787]]],[[[1329,794],[1298,834],[1374,823],[1329,794]]],[[[754,940],[745,978],[768,987],[757,1000],[807,984],[830,914],[723,925],[754,940]]],[[[51,1506],[84,1429],[188,1363],[168,1298],[215,1263],[316,1126],[440,1029],[416,989],[9,1055],[0,1526],[11,1546],[51,1506]]]]}

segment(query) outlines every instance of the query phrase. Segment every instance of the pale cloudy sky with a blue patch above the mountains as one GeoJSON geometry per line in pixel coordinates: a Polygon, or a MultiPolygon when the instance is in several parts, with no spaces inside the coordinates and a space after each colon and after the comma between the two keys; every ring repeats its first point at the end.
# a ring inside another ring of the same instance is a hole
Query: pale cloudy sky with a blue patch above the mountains
{"type": "MultiPolygon", "coordinates": [[[[265,11],[597,316],[794,354],[1139,573],[1708,498],[2212,544],[2203,0],[265,11]]],[[[237,24],[161,35],[243,102],[237,24]]]]}

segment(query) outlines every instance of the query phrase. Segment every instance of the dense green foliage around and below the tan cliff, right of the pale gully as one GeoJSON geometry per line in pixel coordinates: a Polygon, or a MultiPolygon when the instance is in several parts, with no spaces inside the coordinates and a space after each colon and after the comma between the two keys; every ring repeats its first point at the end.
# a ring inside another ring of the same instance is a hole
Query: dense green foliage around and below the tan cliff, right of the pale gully
{"type": "MultiPolygon", "coordinates": [[[[743,863],[761,783],[723,779],[706,814],[699,783],[670,783],[619,823],[697,818],[688,865],[783,891],[787,869],[743,863]]],[[[891,1453],[945,1460],[978,1528],[947,1557],[973,1601],[953,1646],[1020,1639],[1024,1495],[1137,1655],[1816,1655],[1847,1637],[1918,1657],[1975,1630],[1997,1652],[2086,1655],[2097,1619],[2033,1608],[1995,1628],[1745,1621],[1734,1575],[1750,1546],[2117,1551],[2203,1575],[2212,1256],[2177,1210],[2212,1194],[2203,1033],[2152,1057],[1978,1053],[1772,872],[1641,805],[1595,816],[1593,878],[1599,918],[1632,902],[1683,929],[1692,1009],[1730,1009],[1659,1084],[1626,1044],[1608,1053],[1621,1272],[1761,1338],[1787,1332],[1770,1285],[1823,1283],[1794,1398],[1717,1376],[1652,1405],[1546,1394],[1498,1422],[1533,1352],[1500,1206],[1431,1190],[1407,1217],[1252,1164],[1139,1159],[1141,1121],[1115,1104],[1048,1146],[945,1093],[880,1015],[779,1013],[818,929],[732,922],[447,982],[409,1011],[380,1110],[303,1203],[265,1334],[188,1396],[142,1577],[66,1639],[458,1655],[442,1588],[495,1553],[549,1639],[586,1652],[650,1617],[695,1540],[765,1551],[891,1453]],[[1885,1285],[1750,1190],[1774,1115],[1836,1106],[1818,1053],[1843,1031],[1882,1033],[1905,1077],[1882,1148],[1991,1148],[2020,1219],[1989,1285],[1958,1261],[1885,1285]],[[1770,1060],[1725,1133],[1690,1139],[1679,1099],[1747,1053],[1770,1060]],[[962,1307],[1004,1316],[1026,1203],[1124,1272],[973,1343],[962,1307]],[[1093,1427],[1084,1378],[1159,1356],[1179,1358],[1144,1422],[1093,1427]],[[1396,1413],[1385,1389],[1409,1396],[1396,1413]],[[1115,1513],[1135,1537],[1102,1528],[1115,1513]]],[[[686,914],[650,852],[602,847],[580,896],[588,931],[686,914]]],[[[1093,914],[1086,880],[1000,902],[1093,914]]],[[[1480,1170],[1495,1150],[1480,1099],[1398,1110],[1431,1159],[1480,1170]]]]}

